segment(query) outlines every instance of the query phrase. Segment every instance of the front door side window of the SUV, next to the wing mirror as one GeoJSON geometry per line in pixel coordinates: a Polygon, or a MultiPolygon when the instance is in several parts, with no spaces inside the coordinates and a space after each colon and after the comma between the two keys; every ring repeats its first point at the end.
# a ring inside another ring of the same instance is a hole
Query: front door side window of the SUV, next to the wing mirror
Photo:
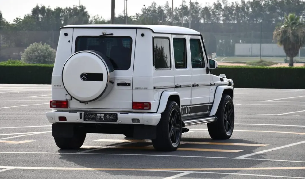
{"type": "Polygon", "coordinates": [[[200,39],[190,39],[192,68],[204,68],[204,58],[200,39]]]}

